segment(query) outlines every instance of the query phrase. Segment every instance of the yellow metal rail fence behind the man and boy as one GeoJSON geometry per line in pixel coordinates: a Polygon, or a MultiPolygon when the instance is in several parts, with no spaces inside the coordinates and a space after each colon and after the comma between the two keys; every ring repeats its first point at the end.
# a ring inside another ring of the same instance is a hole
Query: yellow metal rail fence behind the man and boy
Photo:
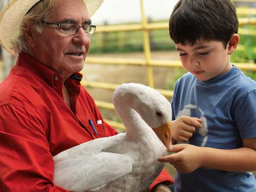
{"type": "MultiPolygon", "coordinates": [[[[256,2],[253,0],[251,2],[256,2]]],[[[142,31],[144,38],[144,54],[145,59],[110,59],[110,58],[97,58],[91,57],[90,55],[86,59],[87,64],[101,64],[101,65],[136,65],[146,68],[148,85],[154,88],[154,78],[152,73],[153,67],[167,67],[167,68],[182,68],[182,64],[179,60],[152,60],[151,59],[151,49],[150,49],[150,38],[149,31],[156,29],[168,29],[168,23],[147,23],[146,17],[144,14],[143,0],[140,0],[141,4],[141,13],[142,13],[142,23],[141,24],[127,24],[127,25],[114,25],[114,26],[99,26],[97,27],[97,33],[102,32],[128,32],[128,31],[142,31]]],[[[238,8],[238,15],[250,15],[256,14],[256,8],[238,8]]],[[[241,35],[250,35],[256,36],[256,31],[241,28],[244,25],[256,25],[255,18],[239,18],[239,34],[241,35]]],[[[244,49],[244,47],[239,46],[238,49],[244,49]]],[[[238,68],[242,70],[250,70],[256,72],[256,65],[250,63],[234,63],[238,68]]],[[[107,89],[114,91],[119,84],[105,83],[105,82],[93,82],[93,81],[84,81],[82,82],[84,87],[93,87],[100,89],[107,89]]],[[[164,96],[171,97],[173,91],[165,89],[156,89],[160,91],[164,96]]],[[[96,105],[99,108],[104,108],[108,110],[114,110],[114,106],[110,102],[96,101],[96,105]]],[[[110,123],[115,128],[124,130],[122,123],[118,123],[112,120],[105,119],[106,122],[110,123]]]]}

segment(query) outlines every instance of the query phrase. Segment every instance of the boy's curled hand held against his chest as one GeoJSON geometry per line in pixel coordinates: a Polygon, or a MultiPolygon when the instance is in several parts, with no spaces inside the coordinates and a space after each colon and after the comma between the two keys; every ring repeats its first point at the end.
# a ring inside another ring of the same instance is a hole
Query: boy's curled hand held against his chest
{"type": "Polygon", "coordinates": [[[201,123],[202,120],[196,117],[180,116],[172,121],[173,139],[177,142],[187,142],[196,131],[196,128],[202,128],[201,123]]]}

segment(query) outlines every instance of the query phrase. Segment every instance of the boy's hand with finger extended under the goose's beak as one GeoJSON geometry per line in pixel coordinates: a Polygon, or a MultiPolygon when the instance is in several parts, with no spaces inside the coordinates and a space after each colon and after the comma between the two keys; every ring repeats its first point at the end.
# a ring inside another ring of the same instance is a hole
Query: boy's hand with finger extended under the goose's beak
{"type": "Polygon", "coordinates": [[[203,157],[203,147],[176,144],[172,148],[172,152],[177,152],[164,157],[159,157],[160,162],[168,162],[173,165],[180,173],[188,174],[201,167],[203,157]]]}

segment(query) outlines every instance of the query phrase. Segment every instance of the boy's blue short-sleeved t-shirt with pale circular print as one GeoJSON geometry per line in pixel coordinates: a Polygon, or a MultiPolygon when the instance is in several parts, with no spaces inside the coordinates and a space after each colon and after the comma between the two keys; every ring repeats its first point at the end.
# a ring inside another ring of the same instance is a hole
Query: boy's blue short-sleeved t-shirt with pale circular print
{"type": "MultiPolygon", "coordinates": [[[[202,119],[203,128],[189,143],[218,149],[242,147],[242,139],[256,137],[256,82],[233,66],[207,81],[192,73],[178,79],[171,101],[173,119],[181,115],[202,119]]],[[[249,172],[234,173],[199,168],[177,172],[175,192],[254,192],[256,180],[249,172]]]]}

